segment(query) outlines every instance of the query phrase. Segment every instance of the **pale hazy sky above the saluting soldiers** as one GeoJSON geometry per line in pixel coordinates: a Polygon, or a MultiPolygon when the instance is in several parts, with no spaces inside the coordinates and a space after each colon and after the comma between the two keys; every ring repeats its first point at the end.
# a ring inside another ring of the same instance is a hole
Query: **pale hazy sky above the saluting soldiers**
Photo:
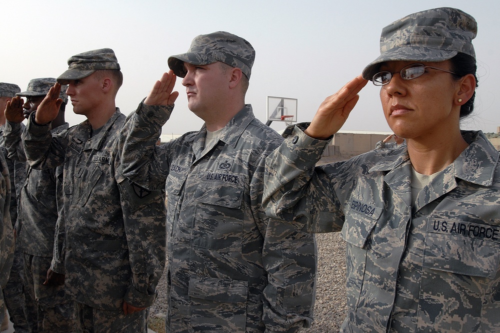
{"type": "MultiPolygon", "coordinates": [[[[255,48],[246,103],[266,121],[266,96],[296,98],[298,121],[310,121],[322,100],[358,75],[379,54],[382,27],[412,12],[459,8],[478,22],[474,39],[479,88],[465,129],[496,132],[500,126],[500,1],[486,0],[10,0],[2,1],[0,81],[24,90],[31,78],[57,77],[67,59],[110,47],[124,76],[116,104],[133,111],[155,80],[168,70],[168,56],[185,52],[198,34],[225,30],[255,48]],[[495,79],[496,77],[496,79],[495,79]]],[[[198,130],[202,121],[188,109],[184,87],[163,133],[198,130]]],[[[379,88],[368,84],[342,130],[390,131],[379,88]]],[[[76,116],[68,103],[66,121],[76,116]]],[[[276,130],[283,123],[274,122],[276,130]]]]}

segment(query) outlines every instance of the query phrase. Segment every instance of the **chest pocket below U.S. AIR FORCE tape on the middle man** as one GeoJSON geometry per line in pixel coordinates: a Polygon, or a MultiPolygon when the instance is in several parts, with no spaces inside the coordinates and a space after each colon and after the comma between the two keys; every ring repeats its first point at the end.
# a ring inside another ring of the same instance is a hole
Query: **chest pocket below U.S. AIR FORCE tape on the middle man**
{"type": "Polygon", "coordinates": [[[244,213],[242,184],[201,182],[195,190],[193,246],[241,251],[244,213]]]}

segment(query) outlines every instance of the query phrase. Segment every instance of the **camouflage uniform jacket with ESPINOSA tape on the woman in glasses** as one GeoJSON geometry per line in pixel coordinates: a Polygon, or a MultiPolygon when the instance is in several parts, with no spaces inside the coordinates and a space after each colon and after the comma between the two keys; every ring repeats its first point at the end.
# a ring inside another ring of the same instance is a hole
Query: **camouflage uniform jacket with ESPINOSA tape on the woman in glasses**
{"type": "MultiPolygon", "coordinates": [[[[302,127],[304,129],[305,127],[302,127]]],[[[287,129],[264,207],[347,242],[341,332],[499,332],[500,163],[481,132],[412,205],[402,146],[315,167],[327,141],[287,129]]]]}

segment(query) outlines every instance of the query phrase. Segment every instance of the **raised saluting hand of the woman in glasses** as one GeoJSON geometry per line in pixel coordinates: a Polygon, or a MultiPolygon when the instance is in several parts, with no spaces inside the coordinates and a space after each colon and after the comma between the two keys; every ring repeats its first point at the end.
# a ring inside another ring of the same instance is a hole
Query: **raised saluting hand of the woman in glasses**
{"type": "Polygon", "coordinates": [[[357,93],[366,83],[368,81],[359,75],[336,93],[326,97],[304,133],[316,139],[327,139],[338,132],[359,99],[357,93]]]}

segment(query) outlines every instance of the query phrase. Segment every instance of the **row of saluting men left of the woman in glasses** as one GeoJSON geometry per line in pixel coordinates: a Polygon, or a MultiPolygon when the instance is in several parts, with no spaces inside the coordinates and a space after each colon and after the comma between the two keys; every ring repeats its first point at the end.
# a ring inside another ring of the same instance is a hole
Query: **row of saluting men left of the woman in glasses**
{"type": "Polygon", "coordinates": [[[109,48],[70,57],[25,92],[2,84],[5,156],[26,162],[25,180],[11,179],[29,332],[145,332],[166,254],[166,332],[310,326],[314,237],[261,207],[264,160],[282,138],[244,102],[254,56],[239,36],[199,35],[128,117],[109,48]],[[176,77],[205,124],[156,145],[176,77]],[[86,117],[72,127],[67,96],[86,117]]]}

